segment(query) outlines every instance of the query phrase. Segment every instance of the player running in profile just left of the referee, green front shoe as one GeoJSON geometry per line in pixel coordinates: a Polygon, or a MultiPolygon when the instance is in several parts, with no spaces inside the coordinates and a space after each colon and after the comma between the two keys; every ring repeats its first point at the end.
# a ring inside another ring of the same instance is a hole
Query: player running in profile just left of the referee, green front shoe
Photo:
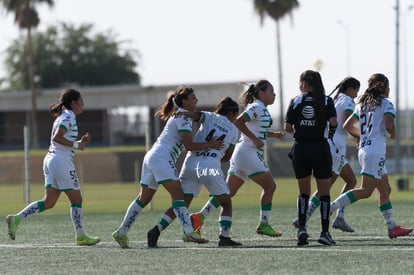
{"type": "MultiPolygon", "coordinates": [[[[235,124],[241,131],[241,137],[236,144],[230,159],[227,183],[230,196],[236,195],[247,178],[252,179],[263,189],[260,196],[260,222],[256,227],[258,234],[271,237],[282,235],[269,224],[272,211],[273,194],[276,183],[264,159],[264,146],[268,137],[282,138],[284,132],[270,131],[272,117],[267,106],[275,101],[273,85],[267,80],[260,80],[249,86],[242,95],[245,110],[240,114],[235,124]]],[[[193,227],[200,233],[204,218],[220,204],[211,197],[199,213],[191,214],[193,227]]]]}

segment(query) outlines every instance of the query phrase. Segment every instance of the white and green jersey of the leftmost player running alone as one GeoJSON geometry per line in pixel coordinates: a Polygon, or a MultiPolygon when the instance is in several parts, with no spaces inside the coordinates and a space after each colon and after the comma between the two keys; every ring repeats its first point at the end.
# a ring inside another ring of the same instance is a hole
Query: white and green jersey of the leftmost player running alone
{"type": "Polygon", "coordinates": [[[64,109],[53,122],[49,151],[54,152],[55,154],[64,154],[73,157],[75,155],[75,151],[72,147],[53,141],[53,136],[59,129],[64,129],[66,131],[66,133],[63,135],[65,139],[71,142],[76,141],[79,134],[78,124],[76,123],[76,116],[72,110],[64,109]]]}

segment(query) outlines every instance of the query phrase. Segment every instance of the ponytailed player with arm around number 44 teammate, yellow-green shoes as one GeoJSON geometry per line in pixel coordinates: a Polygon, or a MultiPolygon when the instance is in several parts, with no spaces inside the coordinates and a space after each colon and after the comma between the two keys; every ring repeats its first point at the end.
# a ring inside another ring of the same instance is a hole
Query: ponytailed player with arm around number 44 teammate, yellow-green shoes
{"type": "Polygon", "coordinates": [[[184,202],[184,193],[178,178],[175,163],[182,150],[220,149],[223,142],[216,139],[195,143],[192,136],[192,121],[187,117],[172,116],[177,111],[195,111],[198,99],[191,87],[178,87],[171,93],[167,101],[160,107],[156,115],[167,121],[161,135],[152,148],[145,154],[142,164],[141,190],[137,198],[131,202],[119,228],[112,233],[112,238],[121,248],[128,248],[127,233],[137,219],[141,210],[151,201],[159,185],[170,193],[172,208],[179,217],[184,231],[185,242],[206,243],[193,231],[188,209],[184,202]]]}

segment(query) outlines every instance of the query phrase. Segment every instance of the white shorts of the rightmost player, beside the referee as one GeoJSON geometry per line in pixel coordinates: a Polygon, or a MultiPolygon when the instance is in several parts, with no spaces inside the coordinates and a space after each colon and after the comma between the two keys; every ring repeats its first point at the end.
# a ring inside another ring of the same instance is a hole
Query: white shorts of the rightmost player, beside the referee
{"type": "Polygon", "coordinates": [[[385,154],[367,154],[365,151],[359,150],[358,160],[361,165],[361,175],[381,179],[382,175],[387,173],[385,169],[385,154]]]}

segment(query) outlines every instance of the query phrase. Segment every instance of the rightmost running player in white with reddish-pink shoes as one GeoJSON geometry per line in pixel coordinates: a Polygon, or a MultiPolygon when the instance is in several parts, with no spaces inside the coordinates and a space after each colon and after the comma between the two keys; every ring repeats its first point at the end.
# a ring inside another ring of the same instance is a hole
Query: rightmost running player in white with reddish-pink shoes
{"type": "Polygon", "coordinates": [[[379,208],[388,227],[388,236],[397,238],[410,234],[412,228],[397,225],[391,201],[391,188],[385,168],[387,136],[395,138],[394,105],[389,100],[388,78],[376,73],[368,79],[368,88],[359,99],[354,113],[344,123],[344,129],[359,138],[358,160],[361,165],[361,187],[349,190],[331,204],[331,211],[369,198],[378,189],[379,208]],[[359,122],[359,128],[355,123],[359,122]]]}

